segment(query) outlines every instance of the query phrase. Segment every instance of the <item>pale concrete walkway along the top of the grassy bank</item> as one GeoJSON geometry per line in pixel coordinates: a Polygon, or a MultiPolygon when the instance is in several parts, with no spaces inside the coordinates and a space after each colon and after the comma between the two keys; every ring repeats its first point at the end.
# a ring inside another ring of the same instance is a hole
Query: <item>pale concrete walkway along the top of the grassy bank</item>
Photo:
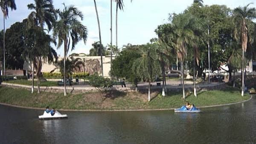
{"type": "MultiPolygon", "coordinates": [[[[156,82],[151,83],[151,89],[161,89],[162,86],[157,86],[156,82]]],[[[166,88],[168,90],[180,90],[182,88],[180,84],[180,81],[174,81],[174,80],[169,80],[166,81],[166,88]]],[[[6,82],[2,82],[2,85],[6,85],[6,86],[12,86],[12,87],[18,87],[18,88],[31,88],[32,86],[29,85],[19,85],[19,84],[11,84],[11,83],[6,83],[6,82]]],[[[211,88],[211,87],[216,87],[216,86],[221,86],[221,85],[225,85],[224,82],[222,83],[199,83],[196,84],[196,88],[200,89],[200,88],[211,88]]],[[[35,85],[34,87],[35,89],[37,89],[37,86],[35,85]]],[[[64,90],[63,86],[41,86],[40,87],[41,90],[64,90]]],[[[141,83],[138,85],[139,90],[141,89],[147,89],[148,88],[148,83],[141,83]]],[[[185,82],[185,89],[191,89],[193,88],[193,84],[190,81],[186,81],[185,82]]],[[[114,90],[134,90],[134,87],[131,84],[127,84],[126,88],[122,88],[121,85],[114,85],[113,86],[114,90]]],[[[91,87],[90,85],[73,85],[73,86],[67,86],[67,90],[96,90],[96,88],[91,87]]]]}

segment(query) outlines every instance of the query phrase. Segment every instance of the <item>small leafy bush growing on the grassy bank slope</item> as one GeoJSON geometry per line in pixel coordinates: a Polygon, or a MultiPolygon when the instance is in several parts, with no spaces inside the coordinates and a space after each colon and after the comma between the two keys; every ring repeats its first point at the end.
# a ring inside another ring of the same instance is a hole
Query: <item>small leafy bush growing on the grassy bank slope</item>
{"type": "Polygon", "coordinates": [[[106,99],[106,93],[110,92],[113,82],[109,78],[98,76],[96,73],[89,76],[89,85],[95,87],[102,96],[102,101],[106,99]]]}

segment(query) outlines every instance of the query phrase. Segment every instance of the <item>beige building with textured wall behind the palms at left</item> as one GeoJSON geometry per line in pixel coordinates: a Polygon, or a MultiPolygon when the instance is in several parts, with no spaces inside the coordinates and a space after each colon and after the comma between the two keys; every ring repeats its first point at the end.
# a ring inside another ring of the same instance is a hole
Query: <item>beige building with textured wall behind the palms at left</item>
{"type": "MultiPolygon", "coordinates": [[[[100,56],[86,56],[85,54],[79,54],[78,56],[73,56],[74,58],[80,58],[81,61],[84,62],[84,65],[80,65],[80,71],[77,70],[76,72],[87,72],[90,74],[93,74],[95,72],[99,73],[99,75],[102,75],[101,71],[101,58],[100,56]]],[[[112,56],[114,59],[115,56],[112,56]]],[[[59,57],[58,60],[63,59],[63,57],[59,57]]],[[[111,69],[111,56],[102,56],[103,60],[103,74],[104,77],[110,77],[110,69],[111,69]]],[[[23,70],[25,71],[31,71],[31,63],[30,62],[24,62],[23,64],[23,70]]],[[[44,62],[42,65],[41,72],[47,72],[54,70],[56,67],[53,64],[48,64],[48,62],[44,62]]],[[[55,70],[55,73],[58,73],[58,69],[55,70]]]]}

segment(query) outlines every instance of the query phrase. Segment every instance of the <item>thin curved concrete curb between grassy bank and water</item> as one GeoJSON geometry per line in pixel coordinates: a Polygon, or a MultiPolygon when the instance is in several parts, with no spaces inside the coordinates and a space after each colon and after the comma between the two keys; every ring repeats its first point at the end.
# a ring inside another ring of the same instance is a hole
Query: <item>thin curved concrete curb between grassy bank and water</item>
{"type": "MultiPolygon", "coordinates": [[[[243,102],[250,101],[252,99],[252,95],[250,96],[250,99],[241,101],[241,102],[234,102],[229,104],[218,104],[218,105],[211,105],[211,106],[203,106],[198,108],[206,108],[206,107],[221,107],[226,105],[232,105],[232,104],[239,104],[243,102]]],[[[36,107],[23,107],[23,106],[17,106],[13,104],[5,104],[0,103],[1,105],[10,106],[10,107],[17,107],[17,108],[25,108],[25,109],[32,109],[32,110],[45,110],[45,108],[36,108],[36,107]]],[[[167,108],[167,109],[138,109],[138,110],[70,110],[70,109],[58,109],[61,111],[71,111],[71,112],[124,112],[124,111],[163,111],[163,110],[174,110],[176,108],[167,108]]]]}

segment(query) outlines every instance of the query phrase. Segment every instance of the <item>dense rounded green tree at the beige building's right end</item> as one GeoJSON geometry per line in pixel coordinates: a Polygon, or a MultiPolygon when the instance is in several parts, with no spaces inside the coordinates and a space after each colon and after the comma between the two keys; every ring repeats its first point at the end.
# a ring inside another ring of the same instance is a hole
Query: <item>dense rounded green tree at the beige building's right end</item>
{"type": "Polygon", "coordinates": [[[138,46],[132,46],[120,52],[120,54],[113,60],[111,76],[125,78],[135,85],[137,91],[137,83],[140,79],[133,71],[134,60],[140,58],[140,51],[138,46]],[[132,48],[133,47],[133,48],[132,48]]]}

